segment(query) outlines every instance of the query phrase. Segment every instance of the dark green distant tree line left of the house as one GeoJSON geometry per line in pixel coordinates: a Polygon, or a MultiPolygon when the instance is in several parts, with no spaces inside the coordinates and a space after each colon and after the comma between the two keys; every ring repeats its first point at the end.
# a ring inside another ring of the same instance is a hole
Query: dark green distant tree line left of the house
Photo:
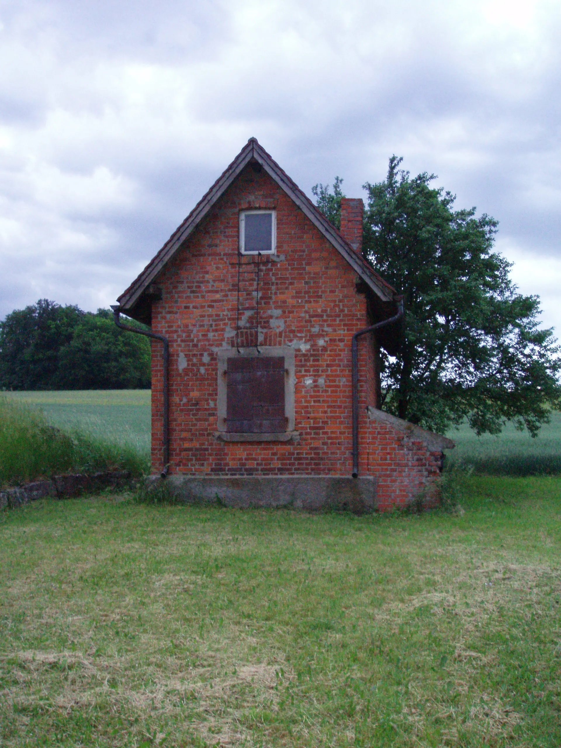
{"type": "Polygon", "coordinates": [[[117,328],[111,310],[84,312],[43,298],[0,322],[0,389],[146,387],[150,341],[117,328]]]}

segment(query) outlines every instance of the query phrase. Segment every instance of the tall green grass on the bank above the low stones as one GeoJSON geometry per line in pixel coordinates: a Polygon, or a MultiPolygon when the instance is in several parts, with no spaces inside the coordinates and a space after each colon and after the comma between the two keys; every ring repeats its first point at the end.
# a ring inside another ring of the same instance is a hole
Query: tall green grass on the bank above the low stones
{"type": "Polygon", "coordinates": [[[0,396],[0,486],[69,470],[111,469],[140,475],[149,469],[147,456],[127,444],[103,441],[78,430],[61,431],[40,411],[0,396]]]}

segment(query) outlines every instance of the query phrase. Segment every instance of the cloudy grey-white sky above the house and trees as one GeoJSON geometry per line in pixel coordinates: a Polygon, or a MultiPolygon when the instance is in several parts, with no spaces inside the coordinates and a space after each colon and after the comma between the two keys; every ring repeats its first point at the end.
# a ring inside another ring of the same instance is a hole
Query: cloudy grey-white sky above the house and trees
{"type": "Polygon", "coordinates": [[[114,303],[254,135],[438,174],[561,331],[559,0],[0,0],[0,319],[114,303]]]}

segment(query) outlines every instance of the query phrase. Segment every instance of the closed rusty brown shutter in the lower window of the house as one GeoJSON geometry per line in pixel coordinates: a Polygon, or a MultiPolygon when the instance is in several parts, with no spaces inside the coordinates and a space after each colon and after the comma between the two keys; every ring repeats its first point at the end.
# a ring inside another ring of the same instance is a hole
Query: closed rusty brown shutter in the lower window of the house
{"type": "Polygon", "coordinates": [[[286,431],[283,357],[228,359],[226,424],[236,434],[286,431]]]}

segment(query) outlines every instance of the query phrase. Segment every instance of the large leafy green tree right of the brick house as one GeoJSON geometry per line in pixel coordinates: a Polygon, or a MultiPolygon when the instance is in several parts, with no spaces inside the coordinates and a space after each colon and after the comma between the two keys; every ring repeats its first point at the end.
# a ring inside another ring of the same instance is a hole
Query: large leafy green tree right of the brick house
{"type": "MultiPolygon", "coordinates": [[[[497,221],[455,210],[434,174],[411,177],[401,162],[392,156],[386,179],[364,185],[364,256],[405,298],[399,353],[382,352],[382,407],[436,432],[467,418],[478,434],[513,420],[536,435],[561,404],[559,348],[539,328],[539,297],[510,280],[494,251],[497,221]]],[[[328,204],[325,188],[316,197],[328,204]]]]}

